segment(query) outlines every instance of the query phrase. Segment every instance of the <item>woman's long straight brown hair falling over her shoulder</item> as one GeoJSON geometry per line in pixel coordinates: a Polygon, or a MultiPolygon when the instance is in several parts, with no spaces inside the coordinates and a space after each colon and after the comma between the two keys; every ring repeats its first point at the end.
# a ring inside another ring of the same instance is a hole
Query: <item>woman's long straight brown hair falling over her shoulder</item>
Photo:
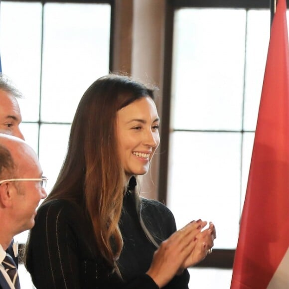
{"type": "Polygon", "coordinates": [[[144,96],[154,99],[153,90],[115,74],[99,78],[87,89],[75,113],[63,166],[44,201],[81,204],[100,254],[117,272],[123,248],[118,223],[127,181],[118,153],[116,117],[118,110],[144,96]]]}

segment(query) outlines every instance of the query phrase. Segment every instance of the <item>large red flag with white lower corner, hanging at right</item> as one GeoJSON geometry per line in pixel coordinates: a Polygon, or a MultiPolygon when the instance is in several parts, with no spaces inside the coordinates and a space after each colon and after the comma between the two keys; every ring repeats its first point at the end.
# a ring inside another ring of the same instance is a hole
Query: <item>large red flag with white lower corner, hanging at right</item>
{"type": "Polygon", "coordinates": [[[231,289],[289,288],[289,46],[286,10],[286,0],[278,0],[231,289]]]}

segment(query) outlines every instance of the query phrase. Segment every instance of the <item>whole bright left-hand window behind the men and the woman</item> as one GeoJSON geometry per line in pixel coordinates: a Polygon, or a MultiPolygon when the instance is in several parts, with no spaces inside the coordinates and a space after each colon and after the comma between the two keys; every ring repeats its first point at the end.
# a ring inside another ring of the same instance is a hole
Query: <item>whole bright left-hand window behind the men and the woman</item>
{"type": "MultiPolygon", "coordinates": [[[[111,1],[1,1],[2,71],[22,92],[23,135],[52,188],[81,96],[109,73],[111,1]]],[[[14,239],[25,243],[28,231],[14,239]]],[[[30,276],[20,270],[23,288],[30,276]]]]}

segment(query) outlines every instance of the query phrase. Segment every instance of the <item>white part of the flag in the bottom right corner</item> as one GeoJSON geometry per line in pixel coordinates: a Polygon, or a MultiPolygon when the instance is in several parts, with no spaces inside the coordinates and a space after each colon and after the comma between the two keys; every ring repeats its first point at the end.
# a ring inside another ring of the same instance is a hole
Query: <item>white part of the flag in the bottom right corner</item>
{"type": "Polygon", "coordinates": [[[289,289],[289,248],[279,264],[267,289],[289,289]]]}

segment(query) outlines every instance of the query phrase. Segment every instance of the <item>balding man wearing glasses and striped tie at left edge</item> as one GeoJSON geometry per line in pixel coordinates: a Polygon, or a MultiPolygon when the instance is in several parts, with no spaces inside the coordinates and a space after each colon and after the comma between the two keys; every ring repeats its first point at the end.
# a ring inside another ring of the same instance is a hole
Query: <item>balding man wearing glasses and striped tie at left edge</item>
{"type": "Polygon", "coordinates": [[[34,150],[19,138],[0,134],[0,288],[20,288],[16,267],[6,254],[13,236],[31,229],[46,178],[34,150]],[[8,260],[8,261],[7,261],[8,260]],[[7,269],[7,266],[8,267],[7,269]],[[14,268],[13,268],[14,269],[14,268]],[[11,269],[12,271],[12,269],[11,269]],[[15,269],[16,271],[16,269],[15,269]]]}

